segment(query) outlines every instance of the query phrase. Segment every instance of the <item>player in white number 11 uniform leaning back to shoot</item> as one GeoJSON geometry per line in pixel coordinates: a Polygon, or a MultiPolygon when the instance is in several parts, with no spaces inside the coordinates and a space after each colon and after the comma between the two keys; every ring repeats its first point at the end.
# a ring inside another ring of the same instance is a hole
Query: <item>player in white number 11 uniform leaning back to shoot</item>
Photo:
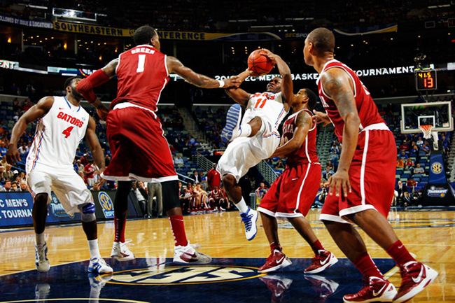
{"type": "MultiPolygon", "coordinates": [[[[270,157],[279,145],[280,135],[277,127],[288,112],[288,100],[293,97],[288,64],[269,50],[265,50],[265,55],[278,66],[283,78],[273,78],[267,84],[267,92],[249,94],[238,87],[226,90],[237,104],[229,108],[226,126],[221,133],[223,140],[232,142],[221,156],[217,167],[226,194],[240,211],[248,241],[254,239],[258,232],[256,227],[258,212],[246,206],[244,198],[241,197],[239,179],[248,172],[248,169],[270,157]],[[243,119],[240,106],[246,108],[243,119]]],[[[255,75],[247,69],[238,77],[243,81],[248,76],[255,75]]]]}

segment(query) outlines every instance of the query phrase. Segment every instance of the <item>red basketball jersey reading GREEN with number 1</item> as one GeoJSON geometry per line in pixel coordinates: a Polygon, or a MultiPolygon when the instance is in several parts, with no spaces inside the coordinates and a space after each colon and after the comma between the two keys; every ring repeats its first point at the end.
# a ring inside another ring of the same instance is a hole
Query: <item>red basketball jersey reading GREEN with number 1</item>
{"type": "Polygon", "coordinates": [[[166,55],[151,45],[137,45],[118,59],[117,98],[111,108],[127,101],[156,111],[161,92],[169,82],[166,55]]]}

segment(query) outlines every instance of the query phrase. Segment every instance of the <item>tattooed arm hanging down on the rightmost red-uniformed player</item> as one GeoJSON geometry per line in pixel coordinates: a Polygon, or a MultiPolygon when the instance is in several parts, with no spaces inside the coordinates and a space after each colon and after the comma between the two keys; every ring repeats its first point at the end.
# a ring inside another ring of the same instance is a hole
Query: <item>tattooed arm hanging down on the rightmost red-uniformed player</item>
{"type": "Polygon", "coordinates": [[[343,148],[339,155],[337,172],[330,177],[330,195],[339,196],[343,192],[347,196],[351,192],[349,183],[349,167],[357,146],[360,118],[358,117],[356,99],[353,94],[353,83],[346,71],[338,68],[329,69],[321,78],[323,89],[335,102],[339,115],[344,120],[343,148]]]}

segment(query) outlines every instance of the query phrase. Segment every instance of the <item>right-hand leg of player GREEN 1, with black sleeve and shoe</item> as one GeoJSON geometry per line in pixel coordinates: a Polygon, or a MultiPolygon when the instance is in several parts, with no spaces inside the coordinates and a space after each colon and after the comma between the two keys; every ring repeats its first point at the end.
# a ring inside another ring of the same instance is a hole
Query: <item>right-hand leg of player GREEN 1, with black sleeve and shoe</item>
{"type": "Polygon", "coordinates": [[[161,183],[163,209],[169,216],[172,234],[174,234],[174,262],[181,263],[209,263],[211,257],[200,253],[186,239],[185,225],[183,223],[182,209],[179,199],[179,181],[166,181],[161,183]]]}

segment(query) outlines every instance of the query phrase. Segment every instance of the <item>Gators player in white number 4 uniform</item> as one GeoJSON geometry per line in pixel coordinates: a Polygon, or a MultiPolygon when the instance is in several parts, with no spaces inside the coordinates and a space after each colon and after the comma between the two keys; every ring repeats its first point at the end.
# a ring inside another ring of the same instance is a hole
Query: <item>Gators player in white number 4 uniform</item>
{"type": "Polygon", "coordinates": [[[85,137],[94,161],[100,171],[104,170],[104,155],[95,134],[95,122],[80,106],[82,96],[76,91],[80,80],[78,76],[66,79],[65,97],[44,97],[26,111],[13,127],[6,153],[8,163],[20,161],[18,140],[27,125],[39,119],[25,167],[29,190],[34,197],[32,216],[36,236],[35,265],[38,272],[48,272],[50,268],[44,229],[51,190],[55,192],[66,213],[80,212],[90,250],[88,271],[99,274],[113,272],[99,253],[92,193],[73,169],[76,148],[85,137]]]}

